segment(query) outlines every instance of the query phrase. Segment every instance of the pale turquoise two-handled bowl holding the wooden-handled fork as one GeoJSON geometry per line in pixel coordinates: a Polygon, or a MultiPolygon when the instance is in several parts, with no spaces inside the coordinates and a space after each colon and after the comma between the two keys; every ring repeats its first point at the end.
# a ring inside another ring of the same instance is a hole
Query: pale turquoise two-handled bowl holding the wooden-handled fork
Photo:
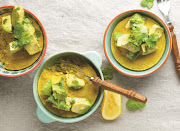
{"type": "Polygon", "coordinates": [[[104,91],[102,88],[99,88],[99,94],[97,96],[97,99],[96,99],[95,103],[92,105],[92,107],[90,108],[90,110],[87,113],[77,116],[77,117],[74,117],[74,118],[63,118],[63,117],[60,117],[60,116],[57,116],[57,115],[51,113],[48,109],[46,109],[46,107],[42,104],[39,94],[38,94],[39,77],[44,69],[51,67],[52,65],[54,65],[54,63],[56,62],[57,59],[59,59],[60,57],[65,57],[65,56],[77,56],[79,58],[88,60],[91,63],[91,65],[94,67],[94,69],[96,70],[97,75],[102,80],[104,80],[103,74],[100,69],[100,67],[102,65],[102,58],[98,53],[96,53],[94,51],[86,52],[84,54],[77,53],[77,52],[62,52],[62,53],[56,54],[56,55],[51,56],[50,58],[46,59],[41,64],[41,66],[38,68],[36,75],[34,77],[34,81],[33,81],[33,94],[34,94],[35,101],[37,103],[36,114],[37,114],[39,120],[44,123],[50,123],[53,121],[59,121],[62,123],[74,123],[74,122],[84,120],[85,118],[89,117],[92,113],[95,112],[95,110],[99,107],[99,105],[102,101],[102,98],[103,98],[104,91]]]}

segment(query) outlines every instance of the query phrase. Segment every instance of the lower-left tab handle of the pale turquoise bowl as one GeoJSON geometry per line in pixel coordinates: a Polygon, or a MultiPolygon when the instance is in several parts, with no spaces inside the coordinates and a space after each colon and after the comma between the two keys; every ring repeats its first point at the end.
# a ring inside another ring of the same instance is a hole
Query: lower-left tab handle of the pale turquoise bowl
{"type": "Polygon", "coordinates": [[[37,107],[36,109],[36,114],[37,114],[38,119],[44,123],[51,123],[55,121],[54,119],[47,116],[39,107],[37,107]]]}

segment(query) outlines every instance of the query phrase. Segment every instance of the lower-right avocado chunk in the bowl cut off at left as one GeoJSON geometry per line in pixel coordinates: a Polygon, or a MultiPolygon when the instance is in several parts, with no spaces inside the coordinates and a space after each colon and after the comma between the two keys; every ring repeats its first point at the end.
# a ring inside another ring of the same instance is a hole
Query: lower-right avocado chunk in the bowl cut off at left
{"type": "Polygon", "coordinates": [[[32,38],[30,39],[30,43],[24,46],[24,48],[29,53],[29,55],[34,55],[42,50],[34,35],[32,35],[32,38]]]}

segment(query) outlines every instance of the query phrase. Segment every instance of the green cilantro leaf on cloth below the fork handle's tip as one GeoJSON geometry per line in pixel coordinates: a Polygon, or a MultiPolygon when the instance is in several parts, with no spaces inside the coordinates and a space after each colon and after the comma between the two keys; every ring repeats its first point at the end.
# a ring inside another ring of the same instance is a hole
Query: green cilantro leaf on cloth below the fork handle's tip
{"type": "Polygon", "coordinates": [[[145,107],[145,104],[133,100],[128,100],[126,102],[126,107],[131,111],[136,111],[138,109],[143,109],[145,107]]]}

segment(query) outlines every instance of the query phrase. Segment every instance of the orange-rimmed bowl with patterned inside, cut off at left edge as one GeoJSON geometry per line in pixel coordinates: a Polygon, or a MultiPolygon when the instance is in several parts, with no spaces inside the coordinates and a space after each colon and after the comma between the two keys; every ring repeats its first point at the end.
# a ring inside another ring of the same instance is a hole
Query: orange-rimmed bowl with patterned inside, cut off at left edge
{"type": "MultiPolygon", "coordinates": [[[[0,7],[0,14],[11,12],[13,10],[13,7],[14,6],[2,6],[2,7],[0,7]]],[[[47,36],[46,36],[45,29],[44,29],[42,23],[39,21],[39,19],[33,13],[31,13],[30,11],[28,11],[26,9],[24,9],[24,11],[25,11],[26,15],[30,16],[32,19],[34,19],[38,23],[38,25],[39,25],[42,33],[43,33],[43,50],[42,50],[39,58],[32,65],[30,65],[27,68],[21,69],[21,70],[12,71],[12,70],[4,69],[3,68],[4,65],[0,62],[0,76],[18,77],[18,76],[25,75],[25,74],[33,71],[42,62],[42,60],[45,56],[46,48],[47,48],[47,36]]]]}

